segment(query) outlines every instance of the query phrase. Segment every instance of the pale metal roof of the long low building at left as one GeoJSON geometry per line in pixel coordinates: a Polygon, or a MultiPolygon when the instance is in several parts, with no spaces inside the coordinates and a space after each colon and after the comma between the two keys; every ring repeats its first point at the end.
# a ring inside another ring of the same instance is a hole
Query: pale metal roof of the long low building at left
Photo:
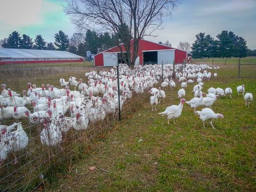
{"type": "Polygon", "coordinates": [[[67,51],[0,49],[0,58],[82,58],[67,51]]]}

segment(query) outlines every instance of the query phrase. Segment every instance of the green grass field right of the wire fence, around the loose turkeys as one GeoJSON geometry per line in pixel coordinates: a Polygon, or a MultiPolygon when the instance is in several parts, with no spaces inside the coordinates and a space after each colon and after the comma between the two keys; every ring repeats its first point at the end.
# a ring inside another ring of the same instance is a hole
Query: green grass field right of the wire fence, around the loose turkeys
{"type": "MultiPolygon", "coordinates": [[[[221,66],[212,70],[218,78],[205,82],[205,92],[211,86],[229,86],[234,93],[212,106],[225,117],[213,121],[215,130],[209,123],[203,129],[188,105],[176,125],[167,125],[166,117],[158,115],[178,105],[177,84],[175,91],[166,90],[158,111],[151,111],[147,101],[105,138],[95,139],[86,157],[59,174],[48,191],[255,191],[256,104],[247,108],[236,86],[245,84],[246,92],[256,95],[256,79],[235,78],[235,71],[234,66],[221,66]]],[[[193,98],[193,86],[187,87],[187,100],[193,98]]]]}

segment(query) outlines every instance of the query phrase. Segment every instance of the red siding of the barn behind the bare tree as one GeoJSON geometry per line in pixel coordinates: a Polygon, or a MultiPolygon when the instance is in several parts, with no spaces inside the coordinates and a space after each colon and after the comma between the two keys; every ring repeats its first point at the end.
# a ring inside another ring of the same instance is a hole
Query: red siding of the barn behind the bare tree
{"type": "MultiPolygon", "coordinates": [[[[123,44],[121,45],[121,48],[122,48],[122,51],[125,51],[123,44]]],[[[143,52],[142,51],[169,50],[169,49],[175,49],[175,48],[141,39],[139,42],[139,50],[138,50],[138,57],[140,57],[140,64],[142,65],[142,63],[143,63],[143,52]]],[[[120,52],[120,49],[119,49],[119,47],[116,46],[116,47],[113,47],[104,52],[107,52],[107,53],[120,52]]],[[[133,52],[133,39],[131,40],[131,52],[133,52]]],[[[184,59],[187,58],[187,52],[175,49],[174,57],[175,57],[175,63],[179,63],[179,62],[181,63],[181,62],[183,62],[184,59]]],[[[95,55],[94,62],[95,62],[95,66],[103,66],[103,54],[99,53],[99,54],[95,55]]]]}

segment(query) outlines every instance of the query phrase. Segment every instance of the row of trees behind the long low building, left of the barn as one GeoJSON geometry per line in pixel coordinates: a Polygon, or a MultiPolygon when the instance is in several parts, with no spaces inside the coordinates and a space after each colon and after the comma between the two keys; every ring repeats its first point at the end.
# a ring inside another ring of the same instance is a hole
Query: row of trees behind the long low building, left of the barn
{"type": "Polygon", "coordinates": [[[47,43],[42,35],[37,35],[33,41],[29,35],[21,36],[17,31],[13,31],[8,38],[0,40],[0,46],[12,49],[69,51],[86,57],[86,51],[96,54],[115,46],[117,38],[118,36],[108,33],[97,34],[92,30],[87,30],[85,34],[75,33],[68,38],[68,35],[60,30],[54,35],[55,41],[47,43]]]}

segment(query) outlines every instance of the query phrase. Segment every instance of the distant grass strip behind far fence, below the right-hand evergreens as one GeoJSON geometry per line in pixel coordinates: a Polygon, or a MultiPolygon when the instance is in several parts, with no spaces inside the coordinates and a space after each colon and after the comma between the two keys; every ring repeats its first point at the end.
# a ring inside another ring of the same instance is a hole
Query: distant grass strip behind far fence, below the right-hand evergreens
{"type": "MultiPolygon", "coordinates": [[[[210,59],[193,59],[191,63],[197,63],[197,62],[205,62],[212,64],[213,60],[213,65],[218,65],[218,64],[227,64],[227,65],[234,65],[238,64],[239,58],[210,58],[210,59]]],[[[246,57],[246,58],[241,58],[241,64],[248,64],[248,63],[254,63],[256,64],[256,57],[246,57]]]]}

